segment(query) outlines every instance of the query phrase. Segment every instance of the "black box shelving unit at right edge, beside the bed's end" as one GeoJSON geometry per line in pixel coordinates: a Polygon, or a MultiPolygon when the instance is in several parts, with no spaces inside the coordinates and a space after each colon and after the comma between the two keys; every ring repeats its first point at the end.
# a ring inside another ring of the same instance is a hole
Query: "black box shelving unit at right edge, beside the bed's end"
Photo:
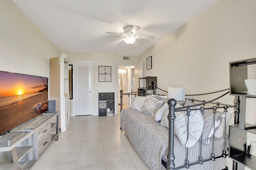
{"type": "MultiPolygon", "coordinates": [[[[240,103],[239,114],[235,114],[235,124],[229,126],[229,152],[228,156],[233,160],[233,170],[244,167],[256,170],[256,156],[247,152],[248,133],[256,135],[256,124],[246,123],[246,100],[255,98],[255,95],[247,93],[245,81],[248,79],[248,65],[256,64],[256,58],[230,63],[230,95],[237,96],[240,103]]],[[[255,65],[256,66],[256,65],[255,65]]],[[[235,111],[236,113],[236,111],[235,111]]]]}

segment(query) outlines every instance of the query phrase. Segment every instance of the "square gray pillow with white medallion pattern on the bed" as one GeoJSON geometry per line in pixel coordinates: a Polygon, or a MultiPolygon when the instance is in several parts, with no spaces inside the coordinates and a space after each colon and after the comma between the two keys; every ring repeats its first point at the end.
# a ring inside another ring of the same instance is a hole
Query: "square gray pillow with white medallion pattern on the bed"
{"type": "Polygon", "coordinates": [[[148,96],[140,111],[142,113],[146,113],[147,115],[154,116],[156,111],[163,105],[163,103],[164,102],[162,100],[148,96]]]}

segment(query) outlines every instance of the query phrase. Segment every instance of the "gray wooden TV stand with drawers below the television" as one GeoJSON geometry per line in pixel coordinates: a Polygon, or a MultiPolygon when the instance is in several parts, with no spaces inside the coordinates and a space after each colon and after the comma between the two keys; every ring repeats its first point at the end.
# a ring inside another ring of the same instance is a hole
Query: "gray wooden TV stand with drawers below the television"
{"type": "Polygon", "coordinates": [[[38,115],[0,137],[0,166],[19,163],[29,170],[52,143],[58,140],[59,112],[38,115]],[[34,130],[32,130],[34,129],[34,130]],[[25,132],[30,131],[30,132],[25,132]]]}

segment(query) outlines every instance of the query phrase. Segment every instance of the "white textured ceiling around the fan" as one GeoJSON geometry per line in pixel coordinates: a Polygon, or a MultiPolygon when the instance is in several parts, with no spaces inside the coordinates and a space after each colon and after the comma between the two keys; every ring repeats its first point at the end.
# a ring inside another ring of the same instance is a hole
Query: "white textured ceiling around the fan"
{"type": "Polygon", "coordinates": [[[13,0],[61,50],[138,56],[219,0],[13,0]],[[139,25],[127,45],[124,27],[139,25]]]}

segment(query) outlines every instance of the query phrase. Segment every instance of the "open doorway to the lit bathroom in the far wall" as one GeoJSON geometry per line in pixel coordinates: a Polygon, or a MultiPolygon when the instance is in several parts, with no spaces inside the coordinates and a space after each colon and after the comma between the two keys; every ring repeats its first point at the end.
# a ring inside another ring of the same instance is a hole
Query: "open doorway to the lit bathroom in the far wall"
{"type": "MultiPolygon", "coordinates": [[[[134,92],[134,68],[130,65],[118,65],[118,106],[121,103],[120,90],[123,93],[134,92]]],[[[130,107],[131,98],[123,96],[123,108],[130,107]]]]}

